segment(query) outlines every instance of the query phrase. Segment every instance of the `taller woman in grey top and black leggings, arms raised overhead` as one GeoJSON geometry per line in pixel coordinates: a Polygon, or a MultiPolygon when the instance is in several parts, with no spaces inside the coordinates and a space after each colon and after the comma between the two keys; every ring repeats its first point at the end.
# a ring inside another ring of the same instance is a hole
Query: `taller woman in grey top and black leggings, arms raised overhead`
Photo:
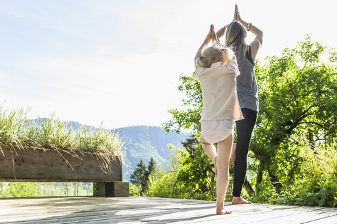
{"type": "Polygon", "coordinates": [[[219,37],[225,34],[225,45],[234,49],[240,70],[236,86],[238,100],[244,120],[236,121],[236,145],[233,145],[232,163],[234,165],[234,186],[232,204],[251,204],[241,197],[242,186],[245,183],[247,173],[247,156],[251,133],[258,117],[258,85],[254,73],[254,61],[262,44],[263,33],[258,27],[242,20],[238,6],[235,5],[234,21],[223,27],[216,33],[219,37]],[[255,39],[249,45],[245,38],[247,31],[255,35],[255,39]]]}

